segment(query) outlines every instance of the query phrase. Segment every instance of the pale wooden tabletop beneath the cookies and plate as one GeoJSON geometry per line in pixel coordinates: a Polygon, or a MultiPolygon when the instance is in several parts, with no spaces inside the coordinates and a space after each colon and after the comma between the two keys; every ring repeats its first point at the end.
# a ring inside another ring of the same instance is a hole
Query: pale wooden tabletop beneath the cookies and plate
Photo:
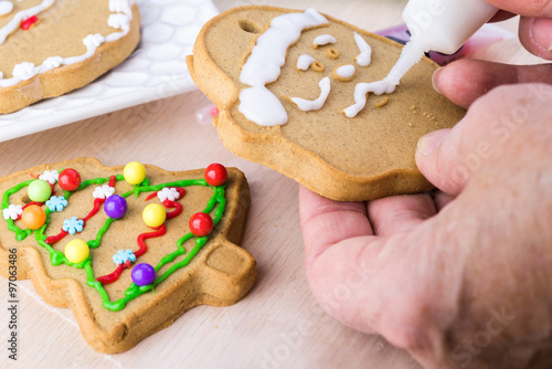
{"type": "MultiPolygon", "coordinates": [[[[321,12],[375,31],[401,23],[405,1],[231,1],[243,4],[316,7],[321,12]]],[[[503,27],[516,30],[516,21],[503,27]]],[[[493,45],[478,57],[533,63],[517,40],[493,45]]],[[[418,368],[381,337],[349,329],[317,307],[305,281],[297,183],[227,151],[211,125],[194,114],[209,101],[199,91],[0,143],[0,176],[43,162],[91,156],[103,164],[131,160],[168,170],[203,168],[219,161],[247,176],[253,203],[243,246],[257,260],[258,280],[238,304],[200,306],[134,349],[97,354],[82,339],[67,309],[36,297],[19,284],[19,360],[8,360],[6,280],[0,282],[0,367],[19,368],[418,368]]],[[[376,298],[376,296],[374,296],[376,298]]]]}

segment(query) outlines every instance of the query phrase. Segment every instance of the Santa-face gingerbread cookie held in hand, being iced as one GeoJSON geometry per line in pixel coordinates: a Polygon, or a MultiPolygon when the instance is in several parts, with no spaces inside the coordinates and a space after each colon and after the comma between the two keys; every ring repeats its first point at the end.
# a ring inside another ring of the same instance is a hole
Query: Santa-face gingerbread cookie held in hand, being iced
{"type": "Polygon", "coordinates": [[[433,88],[428,59],[393,93],[367,93],[401,50],[314,9],[243,7],[208,22],[187,61],[231,151],[352,201],[431,189],[417,140],[465,114],[433,88]]]}

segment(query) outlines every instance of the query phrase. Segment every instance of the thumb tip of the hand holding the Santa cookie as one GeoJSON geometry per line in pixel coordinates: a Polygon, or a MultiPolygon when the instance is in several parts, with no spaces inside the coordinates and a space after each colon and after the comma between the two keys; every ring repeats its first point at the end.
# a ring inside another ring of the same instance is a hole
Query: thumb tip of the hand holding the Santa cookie
{"type": "Polygon", "coordinates": [[[469,176],[459,159],[463,123],[423,136],[416,149],[416,165],[422,175],[439,190],[454,196],[460,193],[469,176]]]}

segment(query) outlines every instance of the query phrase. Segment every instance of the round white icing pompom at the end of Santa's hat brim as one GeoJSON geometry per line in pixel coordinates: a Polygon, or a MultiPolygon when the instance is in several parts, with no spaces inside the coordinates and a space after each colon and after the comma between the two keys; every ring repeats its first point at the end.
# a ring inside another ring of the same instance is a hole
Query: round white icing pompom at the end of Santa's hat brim
{"type": "Polygon", "coordinates": [[[265,86],[242,89],[240,102],[237,109],[259,126],[282,126],[287,123],[284,106],[265,86]]]}

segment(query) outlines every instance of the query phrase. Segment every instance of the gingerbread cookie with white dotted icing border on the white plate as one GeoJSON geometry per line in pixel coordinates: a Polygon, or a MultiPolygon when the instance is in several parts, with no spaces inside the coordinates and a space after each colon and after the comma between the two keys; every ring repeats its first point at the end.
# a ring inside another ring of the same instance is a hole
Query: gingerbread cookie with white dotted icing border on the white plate
{"type": "Polygon", "coordinates": [[[0,113],[91,83],[139,39],[136,0],[0,0],[0,113]]]}

